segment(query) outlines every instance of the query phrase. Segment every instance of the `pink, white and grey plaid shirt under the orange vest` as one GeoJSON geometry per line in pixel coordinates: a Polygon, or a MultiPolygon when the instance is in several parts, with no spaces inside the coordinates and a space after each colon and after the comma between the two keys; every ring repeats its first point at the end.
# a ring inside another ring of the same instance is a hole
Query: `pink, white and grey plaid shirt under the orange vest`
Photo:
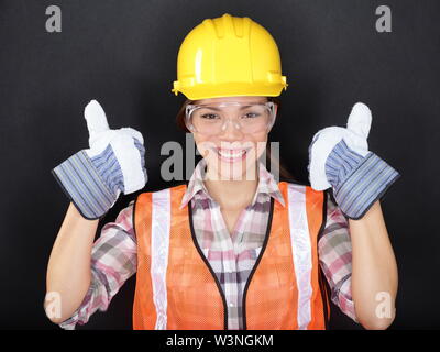
{"type": "MultiPolygon", "coordinates": [[[[219,204],[202,182],[202,158],[189,180],[180,207],[190,202],[197,241],[223,289],[228,306],[228,329],[243,329],[242,297],[249,274],[266,234],[271,197],[285,206],[273,175],[258,164],[258,186],[250,206],[241,212],[232,233],[226,226],[219,204]]],[[[327,193],[327,223],[318,242],[319,263],[331,288],[331,300],[356,320],[351,296],[351,240],[348,220],[327,193]]],[[[136,237],[132,213],[134,201],[114,222],[107,223],[91,253],[91,285],[80,307],[62,322],[63,329],[85,324],[96,310],[106,311],[123,283],[136,272],[136,237]]]]}

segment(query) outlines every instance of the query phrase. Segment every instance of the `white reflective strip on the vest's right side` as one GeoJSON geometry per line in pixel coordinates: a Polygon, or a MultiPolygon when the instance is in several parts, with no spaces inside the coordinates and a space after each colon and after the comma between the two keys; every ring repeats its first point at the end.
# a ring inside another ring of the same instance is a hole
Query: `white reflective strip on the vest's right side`
{"type": "Polygon", "coordinates": [[[311,243],[307,221],[306,186],[288,185],[290,242],[298,287],[298,329],[311,320],[311,243]]]}

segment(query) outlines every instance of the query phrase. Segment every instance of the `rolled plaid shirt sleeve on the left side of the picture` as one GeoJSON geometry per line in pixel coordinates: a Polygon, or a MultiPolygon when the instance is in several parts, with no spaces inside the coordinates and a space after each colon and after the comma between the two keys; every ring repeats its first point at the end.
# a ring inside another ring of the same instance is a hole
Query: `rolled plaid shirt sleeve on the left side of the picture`
{"type": "Polygon", "coordinates": [[[138,246],[133,229],[133,205],[120,211],[114,222],[102,227],[91,251],[90,287],[74,315],[59,323],[65,330],[85,324],[98,309],[106,311],[111,299],[138,268],[138,246]]]}

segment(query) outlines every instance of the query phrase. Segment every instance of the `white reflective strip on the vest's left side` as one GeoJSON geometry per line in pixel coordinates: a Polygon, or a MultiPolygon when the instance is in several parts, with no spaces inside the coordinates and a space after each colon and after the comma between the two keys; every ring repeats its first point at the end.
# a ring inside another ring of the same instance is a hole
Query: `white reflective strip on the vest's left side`
{"type": "Polygon", "coordinates": [[[170,230],[170,190],[167,188],[153,193],[152,202],[151,276],[153,301],[157,314],[155,329],[166,330],[166,270],[168,267],[170,230]]]}

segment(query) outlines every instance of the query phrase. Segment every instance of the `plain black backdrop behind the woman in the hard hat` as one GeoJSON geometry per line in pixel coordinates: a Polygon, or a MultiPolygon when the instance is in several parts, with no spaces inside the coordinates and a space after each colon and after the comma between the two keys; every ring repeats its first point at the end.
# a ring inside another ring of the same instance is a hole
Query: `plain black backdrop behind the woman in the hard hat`
{"type": "MultiPolygon", "coordinates": [[[[205,18],[248,15],[275,37],[289,84],[271,140],[307,179],[307,147],[328,125],[345,127],[351,107],[373,112],[369,147],[400,174],[382,199],[399,268],[391,329],[440,327],[438,175],[440,2],[369,0],[0,1],[0,328],[58,329],[44,314],[48,256],[68,201],[51,169],[88,147],[84,107],[97,99],[111,128],[142,131],[150,180],[161,180],[161,146],[184,145],[172,94],[177,52],[205,18]],[[45,9],[59,6],[62,33],[45,9]],[[378,33],[375,9],[392,9],[378,33]]],[[[112,221],[138,194],[119,199],[112,221]]],[[[77,329],[131,329],[135,277],[77,329]]],[[[332,307],[333,329],[362,329],[332,307]]]]}

